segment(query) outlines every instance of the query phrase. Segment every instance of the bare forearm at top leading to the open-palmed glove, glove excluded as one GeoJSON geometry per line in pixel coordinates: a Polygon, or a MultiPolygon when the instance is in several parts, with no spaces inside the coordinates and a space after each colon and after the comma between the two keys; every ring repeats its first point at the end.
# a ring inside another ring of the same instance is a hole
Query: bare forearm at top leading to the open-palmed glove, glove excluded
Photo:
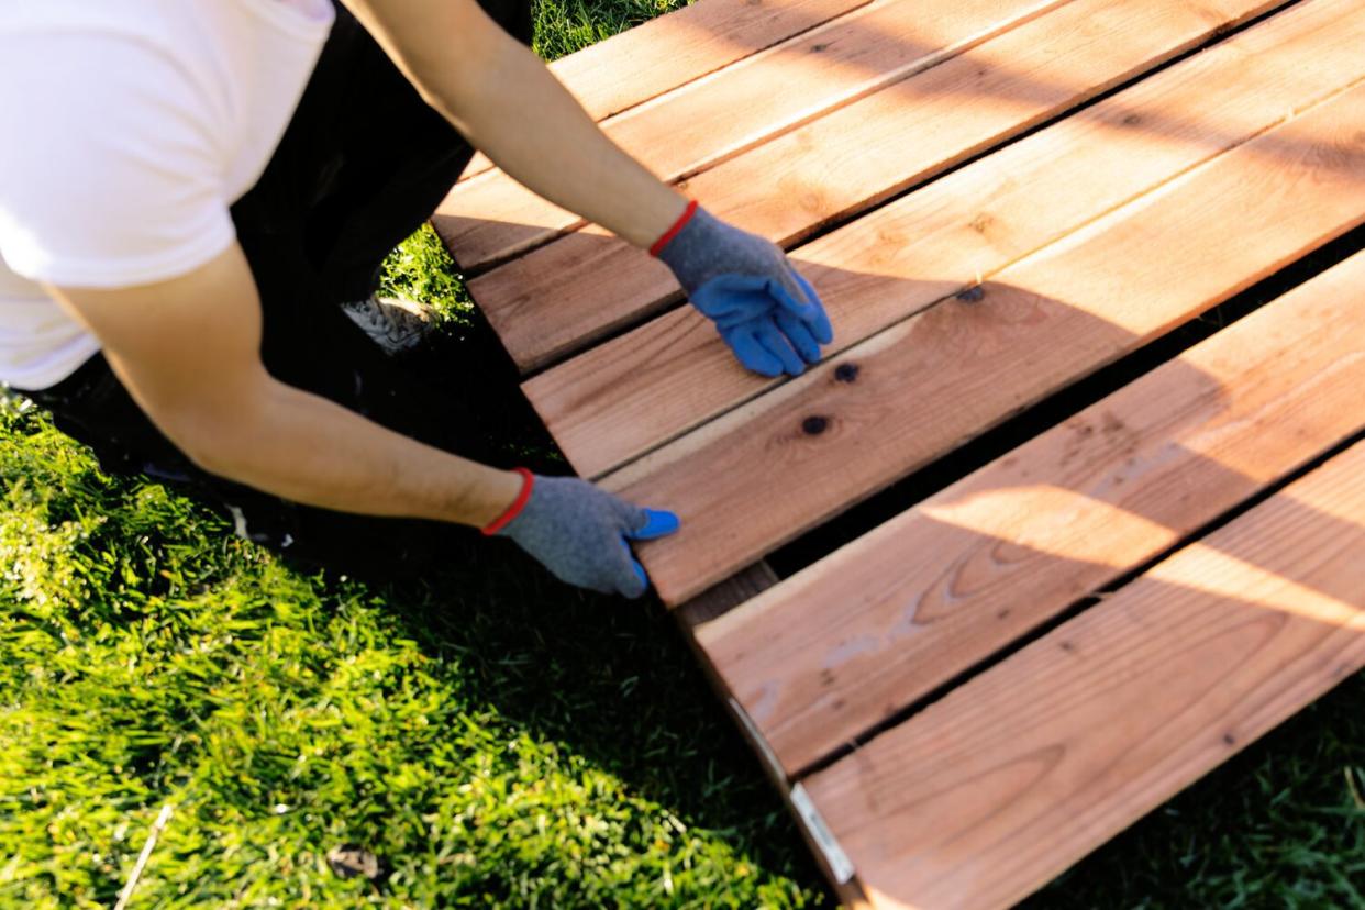
{"type": "Polygon", "coordinates": [[[637,247],[687,207],[476,4],[416,4],[405,16],[386,16],[373,0],[351,4],[427,102],[532,192],[637,247]]]}

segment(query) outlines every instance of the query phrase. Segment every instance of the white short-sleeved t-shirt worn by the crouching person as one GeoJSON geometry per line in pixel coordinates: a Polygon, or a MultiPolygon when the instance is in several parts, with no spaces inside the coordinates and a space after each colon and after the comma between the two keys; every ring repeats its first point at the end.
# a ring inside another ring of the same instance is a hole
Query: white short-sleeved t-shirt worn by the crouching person
{"type": "Polygon", "coordinates": [[[233,240],[332,27],[328,0],[0,3],[0,381],[100,345],[37,281],[126,288],[233,240]]]}

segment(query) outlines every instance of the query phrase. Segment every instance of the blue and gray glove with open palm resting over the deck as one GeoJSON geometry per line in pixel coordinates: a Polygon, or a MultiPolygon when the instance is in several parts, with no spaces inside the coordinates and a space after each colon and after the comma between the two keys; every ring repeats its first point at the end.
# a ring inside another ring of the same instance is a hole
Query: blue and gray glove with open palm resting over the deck
{"type": "Polygon", "coordinates": [[[753,372],[800,375],[834,340],[815,288],[777,244],[714,218],[696,202],[650,247],[753,372]]]}

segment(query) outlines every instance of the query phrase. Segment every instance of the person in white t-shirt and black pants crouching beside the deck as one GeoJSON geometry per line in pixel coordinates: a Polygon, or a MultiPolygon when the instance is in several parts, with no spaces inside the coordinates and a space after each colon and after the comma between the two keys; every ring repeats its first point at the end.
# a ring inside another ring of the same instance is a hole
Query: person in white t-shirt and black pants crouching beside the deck
{"type": "Polygon", "coordinates": [[[778,247],[618,149],[530,38],[526,0],[8,0],[0,381],[281,553],[340,527],[401,561],[468,525],[639,596],[628,542],[677,517],[480,461],[441,411],[471,392],[375,344],[405,327],[385,256],[478,147],[659,256],[743,366],[800,372],[831,329],[778,247]]]}

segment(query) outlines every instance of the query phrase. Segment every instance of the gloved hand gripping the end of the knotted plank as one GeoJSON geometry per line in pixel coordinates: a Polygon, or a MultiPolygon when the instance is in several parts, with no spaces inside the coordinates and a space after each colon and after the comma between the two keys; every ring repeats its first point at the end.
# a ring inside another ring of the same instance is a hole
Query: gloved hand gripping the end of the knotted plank
{"type": "Polygon", "coordinates": [[[673,533],[676,514],[633,506],[577,478],[517,472],[521,495],[483,533],[512,538],[560,581],[627,598],[644,593],[650,580],[627,540],[673,533]]]}

